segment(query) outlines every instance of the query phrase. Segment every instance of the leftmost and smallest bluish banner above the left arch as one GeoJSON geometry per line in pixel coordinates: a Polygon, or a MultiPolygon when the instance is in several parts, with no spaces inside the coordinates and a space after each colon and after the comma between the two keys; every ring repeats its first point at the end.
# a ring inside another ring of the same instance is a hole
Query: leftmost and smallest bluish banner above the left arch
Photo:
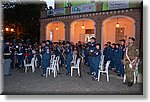
{"type": "Polygon", "coordinates": [[[47,10],[47,16],[58,16],[58,15],[64,15],[64,14],[65,14],[64,8],[47,10]]]}

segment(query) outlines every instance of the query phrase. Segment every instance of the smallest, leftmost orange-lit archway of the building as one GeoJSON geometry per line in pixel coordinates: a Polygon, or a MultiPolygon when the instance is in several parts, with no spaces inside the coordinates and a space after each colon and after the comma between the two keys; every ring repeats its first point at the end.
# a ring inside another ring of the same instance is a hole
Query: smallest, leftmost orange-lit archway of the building
{"type": "Polygon", "coordinates": [[[64,26],[64,23],[60,21],[50,22],[46,28],[46,40],[52,40],[53,42],[65,40],[64,26]]]}

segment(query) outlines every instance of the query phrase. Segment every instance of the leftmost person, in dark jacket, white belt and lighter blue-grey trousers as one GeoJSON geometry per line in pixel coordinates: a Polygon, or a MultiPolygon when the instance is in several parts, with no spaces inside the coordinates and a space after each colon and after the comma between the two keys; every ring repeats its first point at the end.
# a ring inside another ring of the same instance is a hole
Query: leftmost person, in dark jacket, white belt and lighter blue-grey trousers
{"type": "Polygon", "coordinates": [[[11,62],[11,53],[10,53],[10,46],[9,41],[6,41],[3,46],[3,55],[4,55],[4,75],[9,76],[10,74],[10,62],[11,62]]]}

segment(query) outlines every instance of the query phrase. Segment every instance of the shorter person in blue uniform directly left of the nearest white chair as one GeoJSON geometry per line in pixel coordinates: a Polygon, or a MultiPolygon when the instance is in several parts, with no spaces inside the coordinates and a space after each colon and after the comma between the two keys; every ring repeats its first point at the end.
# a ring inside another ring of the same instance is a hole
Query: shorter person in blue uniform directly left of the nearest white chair
{"type": "Polygon", "coordinates": [[[98,80],[98,69],[99,69],[99,63],[101,60],[101,51],[100,51],[100,44],[96,44],[96,49],[94,50],[93,55],[93,68],[94,72],[96,72],[95,76],[93,77],[93,80],[98,80]]]}

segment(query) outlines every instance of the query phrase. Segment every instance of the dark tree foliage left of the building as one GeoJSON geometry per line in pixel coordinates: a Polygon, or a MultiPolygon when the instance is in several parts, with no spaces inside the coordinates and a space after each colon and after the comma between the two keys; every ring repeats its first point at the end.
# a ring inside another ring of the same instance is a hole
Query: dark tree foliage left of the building
{"type": "Polygon", "coordinates": [[[4,25],[20,24],[22,33],[30,34],[32,42],[40,39],[40,12],[47,7],[46,2],[21,3],[2,2],[4,25]]]}

